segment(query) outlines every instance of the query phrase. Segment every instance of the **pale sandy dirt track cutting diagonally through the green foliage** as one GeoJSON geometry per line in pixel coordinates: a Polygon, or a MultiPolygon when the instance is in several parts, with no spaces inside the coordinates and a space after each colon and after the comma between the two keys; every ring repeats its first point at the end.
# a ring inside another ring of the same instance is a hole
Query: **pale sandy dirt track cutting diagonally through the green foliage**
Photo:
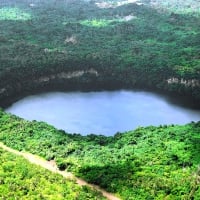
{"type": "Polygon", "coordinates": [[[83,179],[77,178],[75,177],[72,173],[70,172],[66,172],[66,171],[61,171],[58,169],[58,167],[56,166],[55,162],[52,161],[46,161],[44,159],[42,159],[39,156],[33,155],[31,153],[27,153],[27,152],[20,152],[14,149],[11,149],[10,147],[7,147],[6,145],[4,145],[3,143],[0,142],[0,147],[8,152],[14,153],[16,155],[19,156],[23,156],[25,159],[27,159],[29,162],[39,165],[45,169],[48,169],[51,172],[57,173],[62,175],[63,177],[67,178],[67,179],[72,179],[75,180],[76,183],[80,186],[86,185],[89,186],[92,189],[96,189],[97,191],[101,192],[102,195],[104,197],[106,197],[109,200],[120,200],[120,198],[114,196],[112,193],[106,192],[105,190],[103,190],[102,188],[100,188],[97,185],[93,185],[90,183],[87,183],[86,181],[84,181],[83,179]]]}

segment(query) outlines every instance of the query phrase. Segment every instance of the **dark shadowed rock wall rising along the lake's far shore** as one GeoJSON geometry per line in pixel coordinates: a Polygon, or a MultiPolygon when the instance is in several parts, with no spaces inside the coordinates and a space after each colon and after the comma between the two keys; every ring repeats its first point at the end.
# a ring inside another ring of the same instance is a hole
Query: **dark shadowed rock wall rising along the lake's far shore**
{"type": "MultiPolygon", "coordinates": [[[[160,85],[156,82],[152,85],[151,77],[141,79],[140,74],[121,72],[116,74],[113,71],[104,73],[94,68],[83,69],[79,67],[76,70],[57,70],[46,73],[30,72],[24,78],[19,78],[16,72],[12,74],[11,79],[4,78],[0,83],[0,106],[7,107],[19,98],[38,92],[55,91],[55,90],[110,90],[110,89],[151,89],[154,91],[167,92],[169,95],[187,96],[191,101],[199,104],[200,80],[183,79],[171,76],[161,78],[160,85]],[[126,77],[126,78],[124,78],[126,77]],[[149,80],[149,82],[148,82],[149,80]]],[[[8,74],[7,74],[8,76],[8,74]]],[[[6,75],[5,75],[6,77],[6,75]]]]}

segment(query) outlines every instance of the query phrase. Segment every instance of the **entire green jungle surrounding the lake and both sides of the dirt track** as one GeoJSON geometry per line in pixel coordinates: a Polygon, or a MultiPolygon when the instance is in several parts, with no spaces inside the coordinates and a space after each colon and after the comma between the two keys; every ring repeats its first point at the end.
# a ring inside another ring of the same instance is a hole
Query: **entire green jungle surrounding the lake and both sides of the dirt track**
{"type": "MultiPolygon", "coordinates": [[[[200,106],[200,1],[0,0],[1,107],[47,90],[121,88],[200,106]]],[[[200,122],[81,136],[1,110],[0,141],[122,199],[200,199],[200,122]]],[[[2,199],[102,198],[1,149],[0,161],[2,199]]]]}

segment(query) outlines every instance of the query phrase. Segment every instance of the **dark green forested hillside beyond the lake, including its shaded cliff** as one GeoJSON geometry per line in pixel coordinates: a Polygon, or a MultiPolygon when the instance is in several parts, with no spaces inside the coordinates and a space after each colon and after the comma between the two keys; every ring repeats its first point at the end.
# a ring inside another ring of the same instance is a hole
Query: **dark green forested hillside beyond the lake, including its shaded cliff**
{"type": "Polygon", "coordinates": [[[1,105],[48,89],[146,88],[200,100],[199,8],[195,0],[3,1],[1,105]]]}

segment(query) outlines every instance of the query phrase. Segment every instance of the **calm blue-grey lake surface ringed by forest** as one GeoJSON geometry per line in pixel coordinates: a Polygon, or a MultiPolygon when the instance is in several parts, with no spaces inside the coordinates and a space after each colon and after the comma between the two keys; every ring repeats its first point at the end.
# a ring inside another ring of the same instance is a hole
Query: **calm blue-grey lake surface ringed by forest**
{"type": "Polygon", "coordinates": [[[82,135],[110,136],[138,126],[200,120],[200,110],[172,104],[154,93],[124,90],[38,94],[19,100],[6,111],[82,135]]]}

